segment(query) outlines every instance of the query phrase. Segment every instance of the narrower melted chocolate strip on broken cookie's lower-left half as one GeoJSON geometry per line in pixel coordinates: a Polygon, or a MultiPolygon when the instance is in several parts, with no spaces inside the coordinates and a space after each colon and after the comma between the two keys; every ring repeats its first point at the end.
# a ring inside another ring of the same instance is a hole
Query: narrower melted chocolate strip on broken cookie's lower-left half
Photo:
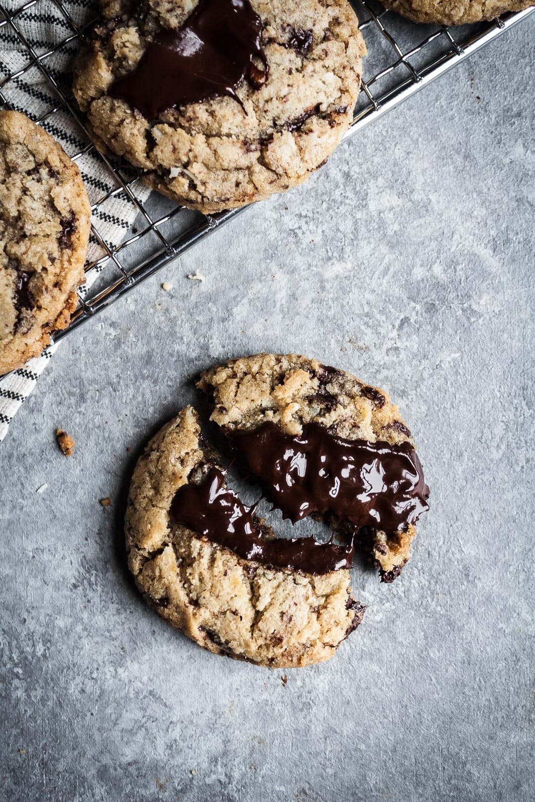
{"type": "Polygon", "coordinates": [[[254,516],[233,490],[225,488],[225,475],[211,468],[201,484],[184,484],[171,505],[172,519],[210,541],[253,560],[303,573],[329,573],[351,568],[352,546],[317,543],[314,537],[268,539],[254,516]]]}

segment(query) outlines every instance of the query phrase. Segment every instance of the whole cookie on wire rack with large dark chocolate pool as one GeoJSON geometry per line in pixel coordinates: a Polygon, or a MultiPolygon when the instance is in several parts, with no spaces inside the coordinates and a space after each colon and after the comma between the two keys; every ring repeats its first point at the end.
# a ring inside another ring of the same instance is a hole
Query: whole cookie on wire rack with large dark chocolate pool
{"type": "Polygon", "coordinates": [[[300,184],[351,123],[365,47],[347,0],[101,3],[75,97],[99,147],[192,209],[300,184]]]}

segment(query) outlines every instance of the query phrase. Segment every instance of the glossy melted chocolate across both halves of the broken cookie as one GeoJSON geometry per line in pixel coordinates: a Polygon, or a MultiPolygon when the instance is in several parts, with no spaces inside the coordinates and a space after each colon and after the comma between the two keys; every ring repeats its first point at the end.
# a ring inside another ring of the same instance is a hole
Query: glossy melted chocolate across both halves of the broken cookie
{"type": "MultiPolygon", "coordinates": [[[[347,440],[318,423],[302,435],[287,435],[275,423],[232,435],[242,465],[266,496],[294,523],[308,515],[333,515],[387,534],[407,529],[428,509],[429,488],[410,443],[347,440]]],[[[266,537],[254,507],[225,487],[225,474],[211,468],[199,484],[179,488],[172,520],[231,549],[245,560],[304,573],[350,568],[353,545],[313,537],[266,537]]]]}

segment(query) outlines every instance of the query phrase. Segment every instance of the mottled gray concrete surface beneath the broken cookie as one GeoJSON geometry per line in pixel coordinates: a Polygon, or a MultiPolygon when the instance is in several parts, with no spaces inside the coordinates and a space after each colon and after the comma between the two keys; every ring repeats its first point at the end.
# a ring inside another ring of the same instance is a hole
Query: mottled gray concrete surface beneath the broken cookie
{"type": "Polygon", "coordinates": [[[533,799],[534,30],[63,342],[0,447],[2,799],[533,799]],[[355,571],[363,626],[306,670],[205,653],[125,569],[135,452],[257,350],[390,390],[432,488],[403,577],[355,571]]]}

